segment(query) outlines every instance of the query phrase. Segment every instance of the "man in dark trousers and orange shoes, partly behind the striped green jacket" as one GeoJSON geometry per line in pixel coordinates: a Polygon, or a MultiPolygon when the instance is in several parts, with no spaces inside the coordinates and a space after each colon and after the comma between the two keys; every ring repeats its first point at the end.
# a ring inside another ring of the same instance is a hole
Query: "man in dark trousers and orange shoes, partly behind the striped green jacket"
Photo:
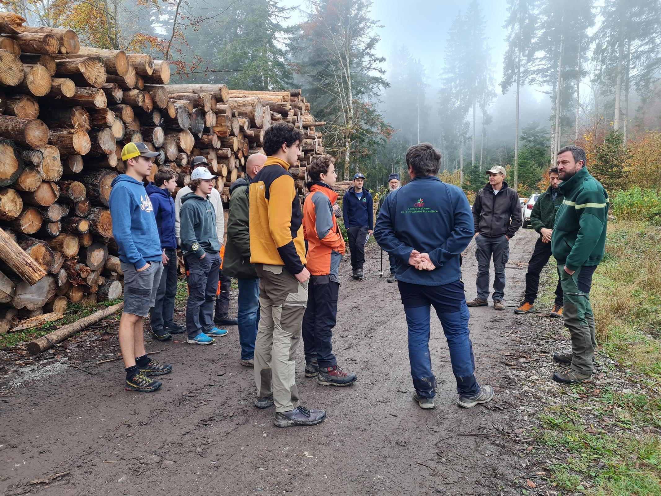
{"type": "MultiPolygon", "coordinates": [[[[551,234],[553,233],[553,223],[558,207],[563,203],[564,196],[559,192],[560,177],[557,165],[551,167],[549,171],[551,185],[545,193],[540,194],[530,213],[530,224],[540,236],[535,243],[533,255],[528,262],[528,271],[525,274],[525,296],[524,302],[519,308],[514,309],[514,313],[526,313],[535,310],[535,299],[539,291],[539,274],[541,269],[551,258],[551,234]]],[[[563,316],[563,287],[558,280],[555,288],[555,304],[551,310],[553,317],[563,316]]]]}

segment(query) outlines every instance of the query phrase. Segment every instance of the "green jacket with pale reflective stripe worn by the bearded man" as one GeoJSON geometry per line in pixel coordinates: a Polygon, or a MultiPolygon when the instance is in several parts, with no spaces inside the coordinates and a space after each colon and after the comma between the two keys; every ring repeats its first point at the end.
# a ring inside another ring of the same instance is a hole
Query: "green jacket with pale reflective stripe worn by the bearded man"
{"type": "Polygon", "coordinates": [[[551,236],[553,257],[570,270],[599,265],[606,246],[608,193],[586,167],[561,183],[560,192],[564,200],[551,236]]]}

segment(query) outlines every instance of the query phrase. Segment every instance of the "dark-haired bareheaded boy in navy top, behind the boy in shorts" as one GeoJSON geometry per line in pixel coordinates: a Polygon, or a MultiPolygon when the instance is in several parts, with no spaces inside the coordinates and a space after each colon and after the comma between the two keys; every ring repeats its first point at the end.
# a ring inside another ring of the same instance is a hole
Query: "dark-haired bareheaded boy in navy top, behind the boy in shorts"
{"type": "Polygon", "coordinates": [[[184,332],[184,327],[175,324],[175,295],[177,282],[175,200],[175,171],[162,167],[147,185],[149,200],[154,208],[156,225],[163,250],[163,274],[156,294],[156,304],[151,308],[149,323],[151,333],[159,341],[167,341],[173,334],[184,332]]]}

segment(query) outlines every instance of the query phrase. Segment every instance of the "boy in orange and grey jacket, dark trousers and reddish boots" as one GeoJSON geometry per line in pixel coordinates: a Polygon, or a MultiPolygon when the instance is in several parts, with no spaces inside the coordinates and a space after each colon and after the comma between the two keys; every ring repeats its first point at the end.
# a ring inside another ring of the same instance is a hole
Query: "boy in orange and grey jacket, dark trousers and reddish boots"
{"type": "Polygon", "coordinates": [[[338,268],[345,248],[332,211],[338,195],[332,190],[337,175],[331,155],[322,155],[307,171],[312,182],[303,204],[307,269],[311,274],[303,315],[305,377],[318,376],[322,386],[348,386],[356,382],[356,376],[337,366],[331,342],[340,290],[338,268]]]}

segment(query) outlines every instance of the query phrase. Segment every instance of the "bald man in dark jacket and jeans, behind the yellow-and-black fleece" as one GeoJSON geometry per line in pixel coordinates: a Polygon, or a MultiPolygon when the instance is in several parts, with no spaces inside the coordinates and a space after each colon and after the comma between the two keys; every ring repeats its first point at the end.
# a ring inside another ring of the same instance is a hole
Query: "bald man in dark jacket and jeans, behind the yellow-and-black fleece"
{"type": "Polygon", "coordinates": [[[254,339],[259,323],[259,278],[250,263],[249,185],[264,167],[266,155],[254,153],[246,161],[247,177],[239,178],[229,188],[229,218],[223,274],[239,281],[239,343],[241,365],[254,366],[254,339]]]}

